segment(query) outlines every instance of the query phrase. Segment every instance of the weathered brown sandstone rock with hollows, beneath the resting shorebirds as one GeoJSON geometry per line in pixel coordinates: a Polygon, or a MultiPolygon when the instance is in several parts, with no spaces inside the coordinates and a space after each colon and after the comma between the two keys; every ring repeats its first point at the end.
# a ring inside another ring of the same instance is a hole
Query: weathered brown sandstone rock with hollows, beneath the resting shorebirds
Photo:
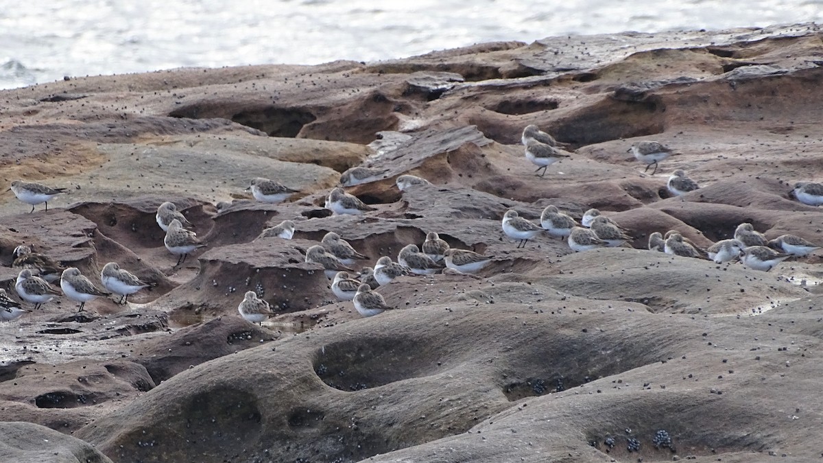
{"type": "Polygon", "coordinates": [[[823,244],[821,208],[789,194],[823,180],[821,37],[628,32],[2,91],[0,189],[68,190],[35,213],[0,192],[0,288],[17,300],[21,243],[152,287],[0,323],[0,460],[819,461],[820,251],[765,273],[646,244],[742,222],[823,244]],[[545,177],[528,124],[569,145],[545,177]],[[674,150],[656,174],[627,152],[641,139],[674,150]],[[383,172],[347,189],[374,211],[332,216],[352,166],[383,172]],[[677,169],[700,189],[672,197],[677,169]],[[298,193],[256,202],[258,176],[298,193]],[[207,242],[181,265],[165,201],[207,242]],[[504,235],[507,210],[550,204],[632,241],[504,235]],[[258,239],[284,220],[292,240],[258,239]],[[305,262],[328,232],[369,258],[355,270],[428,232],[491,263],[396,278],[377,290],[393,310],[362,318],[305,262]],[[238,314],[246,291],[275,312],[262,326],[238,314]]]}

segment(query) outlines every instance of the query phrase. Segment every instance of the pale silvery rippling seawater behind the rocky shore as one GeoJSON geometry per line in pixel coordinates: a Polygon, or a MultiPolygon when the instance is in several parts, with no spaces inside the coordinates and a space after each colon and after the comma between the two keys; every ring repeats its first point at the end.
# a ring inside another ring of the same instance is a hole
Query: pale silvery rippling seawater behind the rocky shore
{"type": "Polygon", "coordinates": [[[0,88],[63,76],[370,62],[493,40],[821,16],[823,0],[0,0],[0,88]]]}

